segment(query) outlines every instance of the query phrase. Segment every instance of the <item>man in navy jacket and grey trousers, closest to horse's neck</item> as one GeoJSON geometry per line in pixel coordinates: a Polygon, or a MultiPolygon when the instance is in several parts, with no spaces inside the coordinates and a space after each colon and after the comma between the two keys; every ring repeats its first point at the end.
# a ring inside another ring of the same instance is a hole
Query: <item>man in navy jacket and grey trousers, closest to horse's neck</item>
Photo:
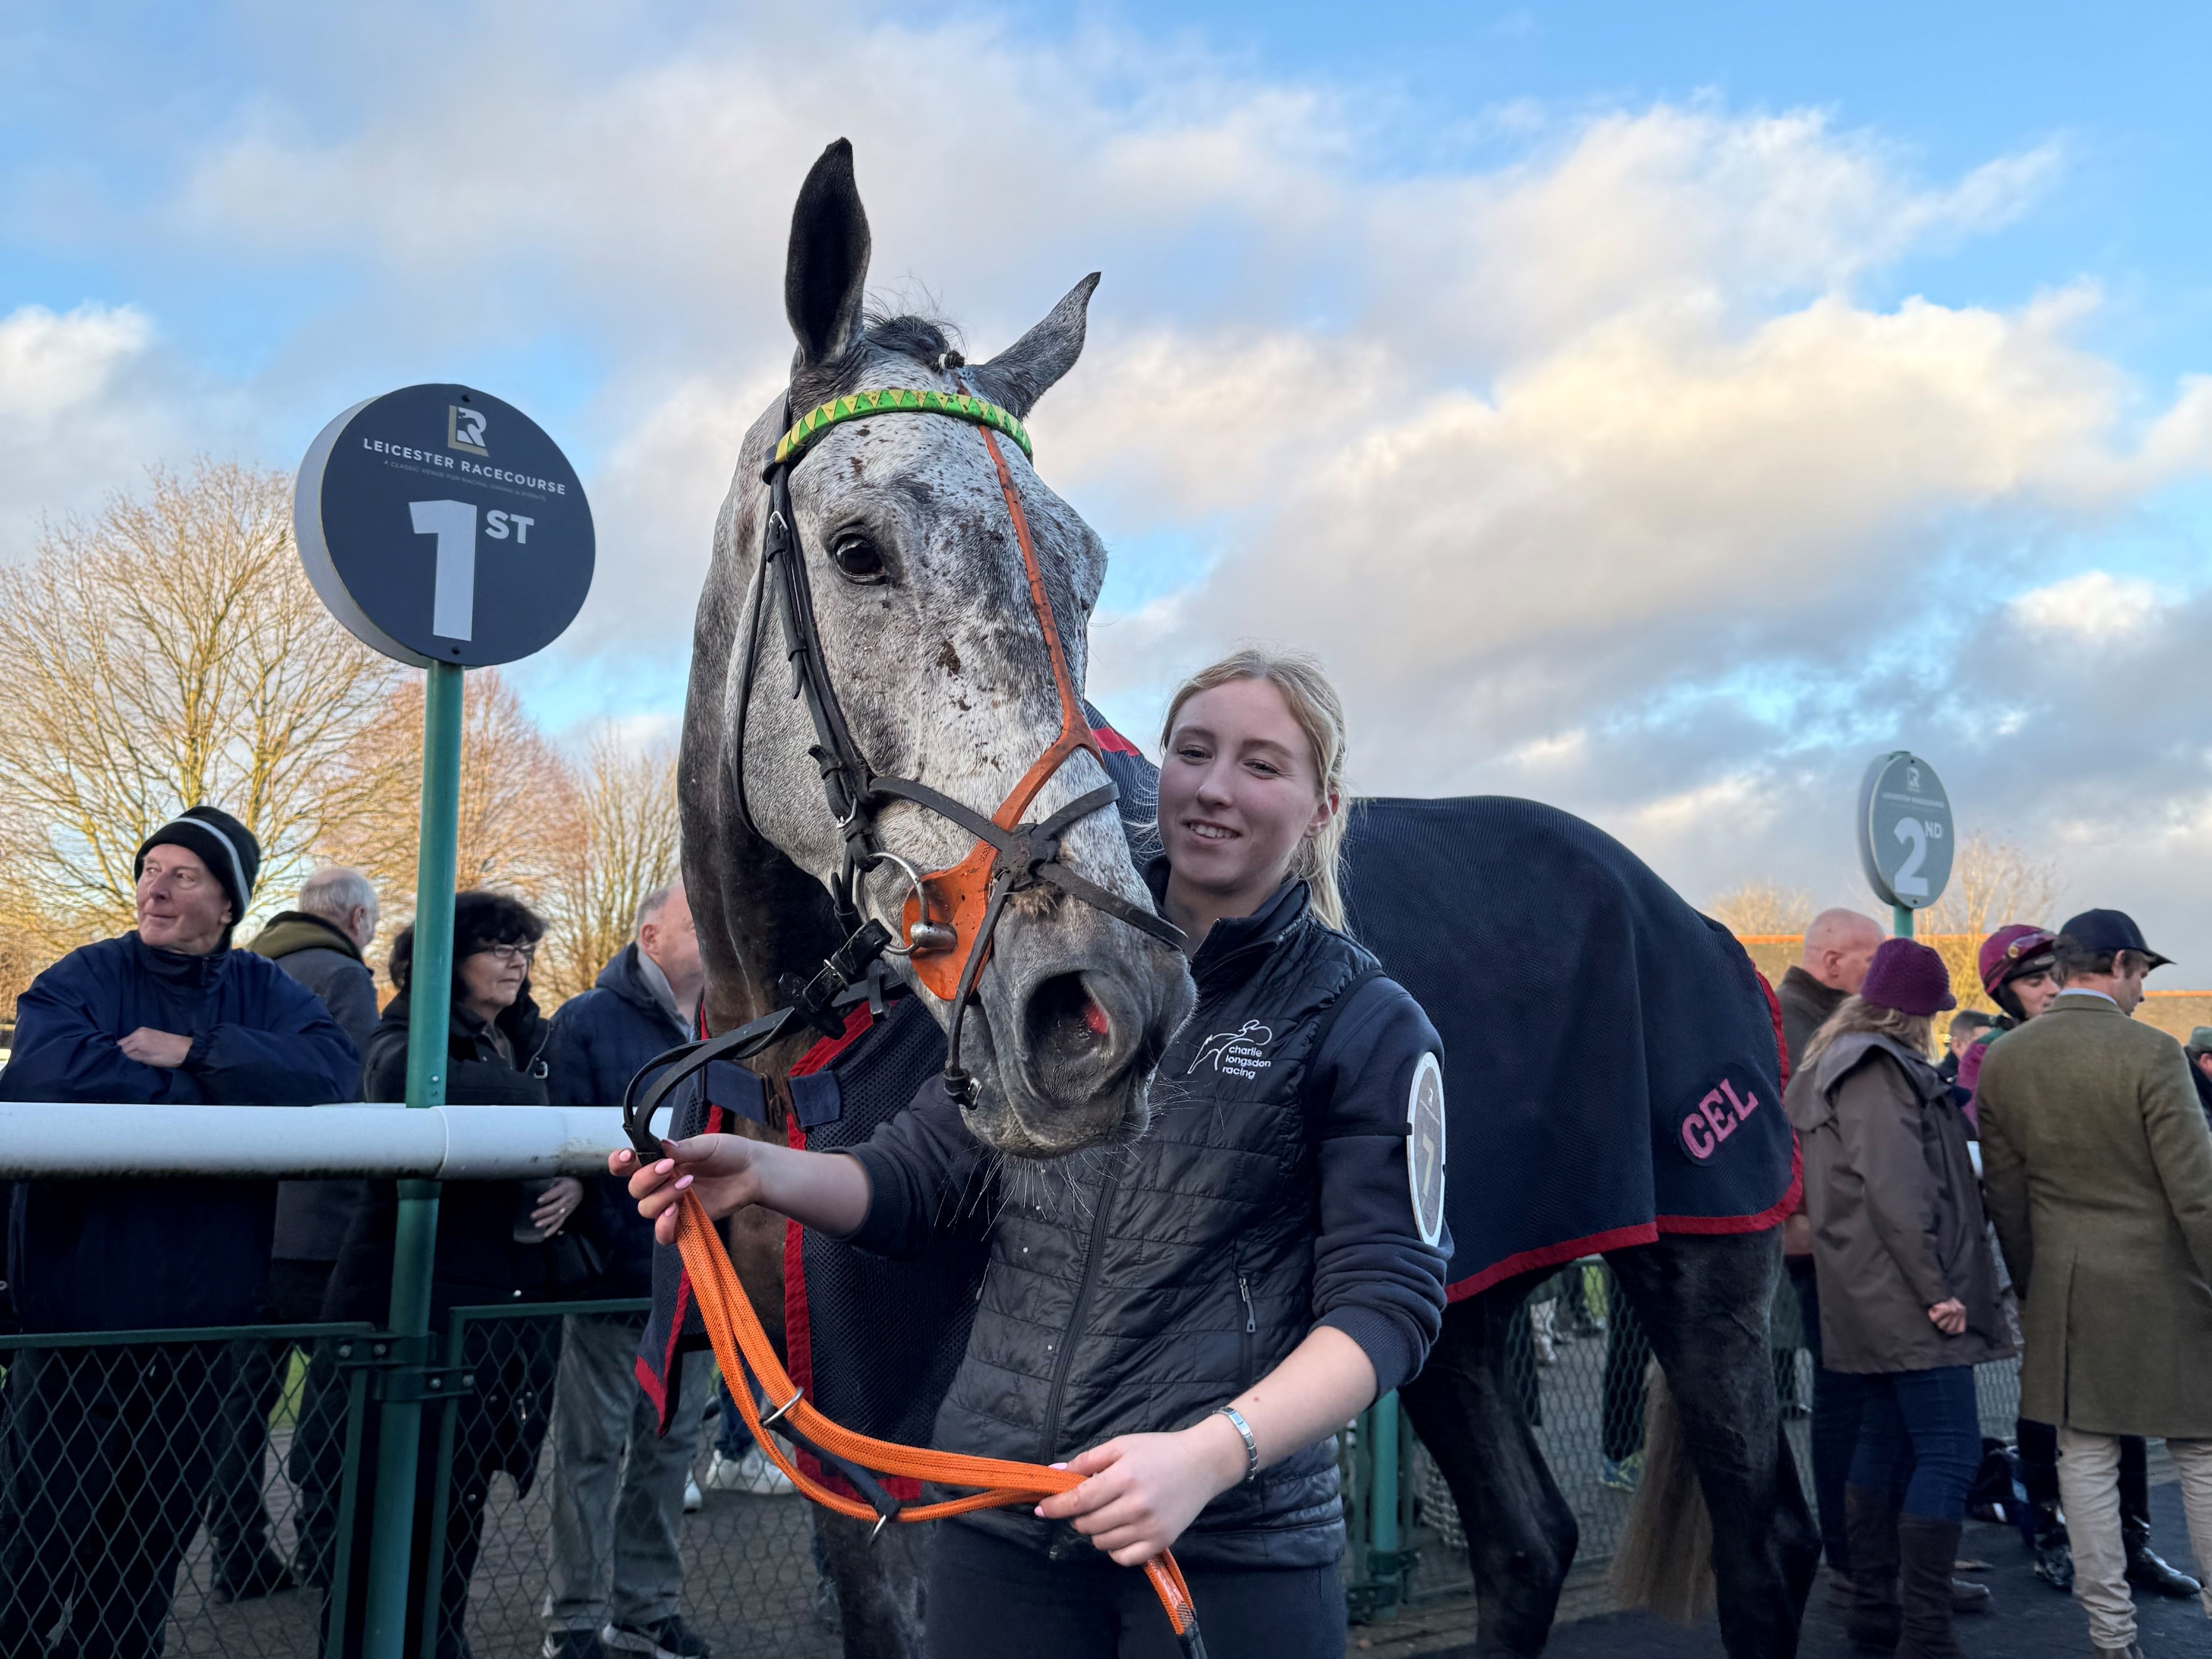
{"type": "MultiPolygon", "coordinates": [[[[553,1015],[546,1046],[555,1106],[619,1106],[630,1077],[690,1037],[706,989],[699,933],[684,887],[661,887],[637,907],[637,938],[599,982],[553,1015]]],[[[622,1181],[593,1183],[593,1239],[606,1261],[606,1294],[653,1294],[653,1223],[622,1181]]],[[[546,1646],[553,1659],[617,1652],[703,1655],[681,1628],[684,1484],[699,1442],[697,1413],[659,1436],[637,1387],[644,1316],[571,1314],[562,1332],[553,1422],[553,1593],[546,1646]],[[622,1517],[617,1528],[615,1517],[622,1517]],[[613,1593],[608,1593],[613,1568],[613,1593]]],[[[679,1398],[699,1400],[712,1354],[688,1354],[679,1398]]]]}

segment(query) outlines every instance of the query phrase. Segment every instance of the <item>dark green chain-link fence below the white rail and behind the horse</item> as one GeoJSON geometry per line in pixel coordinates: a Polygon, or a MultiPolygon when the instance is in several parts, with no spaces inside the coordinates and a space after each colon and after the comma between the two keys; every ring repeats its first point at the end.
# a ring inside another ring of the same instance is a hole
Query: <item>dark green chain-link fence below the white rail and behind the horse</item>
{"type": "MultiPolygon", "coordinates": [[[[418,1469],[420,1511],[445,1524],[418,1528],[414,1582],[440,1593],[409,1608],[411,1652],[522,1659],[549,1632],[668,1615],[723,1659],[841,1652],[807,1504],[710,1478],[723,1429],[708,1356],[686,1371],[684,1427],[666,1442],[644,1427],[628,1376],[641,1312],[453,1314],[436,1371],[449,1385],[425,1411],[418,1469]],[[646,1460],[633,1486],[661,1500],[633,1491],[617,1515],[624,1458],[646,1460]],[[692,1506],[684,1484],[699,1489],[692,1506]]],[[[1798,1332],[1787,1285],[1774,1329],[1798,1332]]],[[[1599,1261],[1562,1270],[1513,1327],[1511,1376],[1582,1524],[1584,1564],[1613,1555],[1635,1493],[1648,1354],[1599,1261]]],[[[396,1358],[358,1325],[0,1336],[0,1657],[164,1646],[345,1659],[358,1626],[347,1608],[365,1590],[376,1400],[396,1358]]],[[[1792,1343],[1774,1365],[1809,1480],[1809,1356],[1792,1343]]],[[[2015,1369],[1986,1365],[1978,1383],[1984,1431],[2008,1440],[2015,1369]]],[[[1394,1559],[1371,1548],[1369,1422],[1343,1438],[1354,1606],[1467,1590],[1460,1517],[1409,1425],[1394,1559]]]]}

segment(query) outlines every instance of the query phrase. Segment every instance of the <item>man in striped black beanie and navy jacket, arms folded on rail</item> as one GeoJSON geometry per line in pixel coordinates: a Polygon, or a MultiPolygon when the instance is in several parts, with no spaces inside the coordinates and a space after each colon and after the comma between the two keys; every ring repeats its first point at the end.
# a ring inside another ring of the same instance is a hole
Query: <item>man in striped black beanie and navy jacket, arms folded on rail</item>
{"type": "MultiPolygon", "coordinates": [[[[139,847],[137,931],[71,951],[15,1011],[0,1097],[307,1106],[356,1099],[361,1055],[272,962],[230,949],[261,849],[192,807],[139,847]]],[[[9,1281],[29,1332],[243,1325],[268,1272],[272,1181],[22,1181],[9,1281]]],[[[153,1655],[212,1464],[212,1345],[29,1349],[11,1369],[0,1652],[153,1655]]]]}

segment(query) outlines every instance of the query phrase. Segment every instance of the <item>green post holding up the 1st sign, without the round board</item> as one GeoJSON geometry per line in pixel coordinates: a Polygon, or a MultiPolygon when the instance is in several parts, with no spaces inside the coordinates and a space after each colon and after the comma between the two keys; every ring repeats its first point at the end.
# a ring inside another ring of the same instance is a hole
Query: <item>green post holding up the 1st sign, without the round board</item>
{"type": "MultiPolygon", "coordinates": [[[[416,938],[407,975],[407,1104],[445,1104],[445,1046],[453,993],[453,843],[460,836],[460,677],[434,661],[422,688],[422,838],[416,849],[416,938]]],[[[438,1183],[400,1181],[398,1245],[392,1252],[392,1336],[403,1367],[429,1360],[431,1256],[438,1248],[438,1183]]],[[[416,1460],[422,1447],[420,1389],[400,1387],[378,1418],[376,1524],[369,1535],[367,1659],[400,1659],[407,1644],[407,1564],[414,1542],[416,1460]],[[416,1396],[416,1398],[407,1398],[416,1396]]],[[[431,1524],[431,1537],[445,1528],[431,1524]]],[[[431,1573],[442,1551],[431,1551],[431,1573]]],[[[431,1586],[436,1597],[436,1584],[431,1586]]]]}

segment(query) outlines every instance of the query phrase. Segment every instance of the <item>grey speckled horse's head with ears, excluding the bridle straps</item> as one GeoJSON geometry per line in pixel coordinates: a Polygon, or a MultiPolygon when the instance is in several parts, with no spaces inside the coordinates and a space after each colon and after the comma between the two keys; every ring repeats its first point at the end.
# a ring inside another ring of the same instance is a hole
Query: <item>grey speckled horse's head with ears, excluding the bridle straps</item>
{"type": "MultiPolygon", "coordinates": [[[[723,1018],[759,1011],[776,969],[812,969],[823,942],[836,945],[818,920],[792,942],[787,918],[765,911],[803,900],[818,918],[818,894],[838,883],[847,860],[847,836],[825,801],[816,726],[792,695],[792,639],[776,584],[754,582],[770,518],[763,465],[790,420],[856,392],[967,394],[1026,416],[1082,352],[1097,283],[1084,279],[1006,352],[967,367],[929,321],[863,316],[867,254],[852,148],[838,142],[807,175],[792,215],[783,301],[799,352],[790,394],[745,436],[699,606],[684,737],[686,867],[723,1018]],[[748,692],[745,637],[754,626],[748,692]],[[745,860],[787,860],[821,887],[801,896],[790,880],[732,869],[745,860]],[[701,889],[710,889],[703,905],[701,889]],[[763,949],[770,933],[785,942],[763,949]],[[745,991],[732,993],[732,982],[745,991]]],[[[1106,549],[1015,442],[998,438],[998,449],[1079,688],[1106,549]]],[[[911,779],[993,814],[1062,737],[1064,706],[982,431],[942,414],[841,420],[807,445],[787,489],[821,666],[852,745],[874,776],[911,779]]],[[[1022,816],[1040,821],[1104,783],[1097,759],[1075,752],[1022,816]]],[[[876,807],[880,847],[918,872],[958,865],[975,845],[973,834],[914,803],[876,807]]],[[[1060,847],[1071,874],[1150,909],[1110,807],[1077,821],[1060,847]]],[[[907,876],[887,858],[860,878],[858,898],[900,933],[907,891],[907,876]]],[[[942,971],[936,978],[947,991],[942,971]]],[[[949,1000],[920,978],[916,987],[947,1020],[949,1000]]],[[[975,995],[980,1009],[971,1004],[960,1044],[975,1077],[969,1124],[984,1144],[1022,1157],[1137,1135],[1152,1068],[1192,1002],[1179,951],[1053,887],[1009,898],[975,995]]]]}

